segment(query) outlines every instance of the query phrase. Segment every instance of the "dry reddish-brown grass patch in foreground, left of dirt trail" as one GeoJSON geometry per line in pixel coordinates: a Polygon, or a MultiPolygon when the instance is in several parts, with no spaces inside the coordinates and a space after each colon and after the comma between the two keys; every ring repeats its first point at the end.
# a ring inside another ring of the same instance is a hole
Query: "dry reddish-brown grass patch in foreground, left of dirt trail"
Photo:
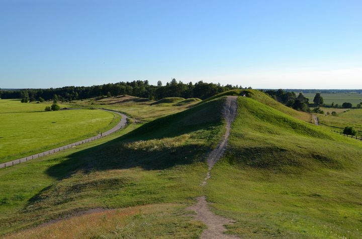
{"type": "Polygon", "coordinates": [[[180,204],[164,203],[110,209],[41,225],[10,234],[5,238],[186,238],[189,235],[196,237],[203,228],[201,222],[190,221],[191,217],[187,216],[170,220],[170,217],[174,217],[183,207],[180,204]],[[192,224],[194,230],[183,229],[185,223],[192,224]]]}

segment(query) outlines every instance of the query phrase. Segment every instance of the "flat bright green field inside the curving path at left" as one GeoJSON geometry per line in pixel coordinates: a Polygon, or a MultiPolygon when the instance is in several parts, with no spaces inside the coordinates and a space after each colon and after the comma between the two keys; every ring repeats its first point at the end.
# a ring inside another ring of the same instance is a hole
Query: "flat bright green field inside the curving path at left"
{"type": "Polygon", "coordinates": [[[45,112],[46,105],[0,100],[0,162],[97,135],[98,130],[110,129],[120,119],[101,110],[45,112]]]}

